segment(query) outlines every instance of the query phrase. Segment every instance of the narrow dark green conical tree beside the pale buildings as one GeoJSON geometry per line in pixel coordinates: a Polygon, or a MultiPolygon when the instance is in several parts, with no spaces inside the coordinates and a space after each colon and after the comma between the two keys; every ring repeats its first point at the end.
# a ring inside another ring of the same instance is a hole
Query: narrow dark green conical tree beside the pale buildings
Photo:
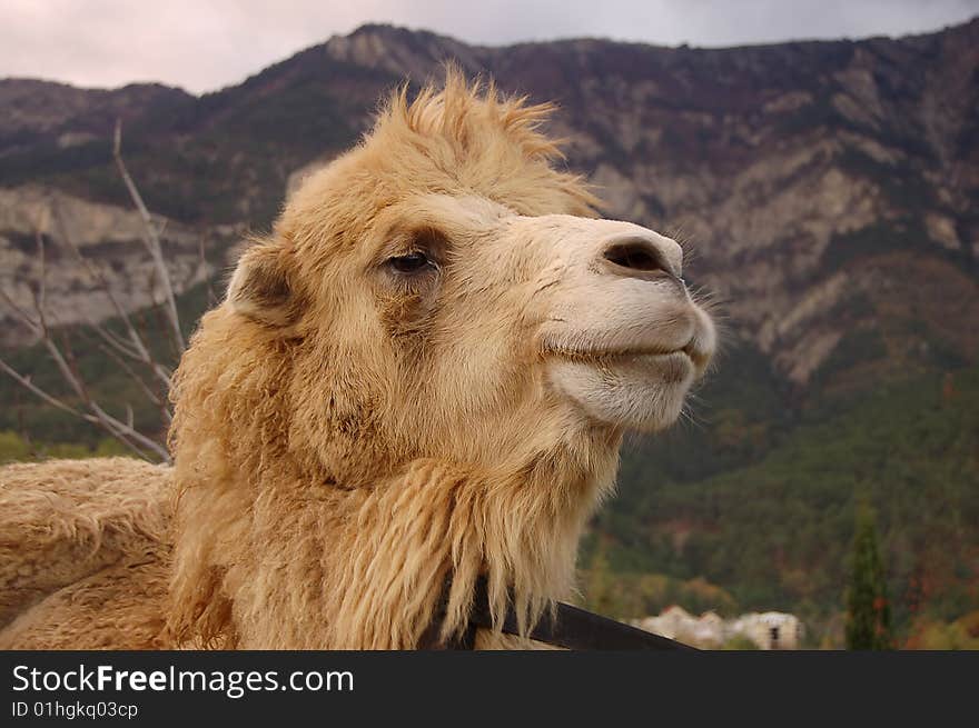
{"type": "Polygon", "coordinates": [[[891,609],[883,564],[877,548],[876,518],[868,506],[861,506],[857,512],[850,568],[850,587],[847,590],[847,648],[892,649],[891,609]]]}

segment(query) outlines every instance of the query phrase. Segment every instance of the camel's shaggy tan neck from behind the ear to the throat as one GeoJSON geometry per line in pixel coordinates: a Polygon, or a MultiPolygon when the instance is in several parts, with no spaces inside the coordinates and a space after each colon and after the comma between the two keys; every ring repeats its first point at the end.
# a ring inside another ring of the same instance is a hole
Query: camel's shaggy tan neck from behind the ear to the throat
{"type": "Polygon", "coordinates": [[[412,647],[446,578],[447,628],[465,621],[483,574],[497,615],[511,592],[525,619],[567,594],[578,536],[614,476],[617,435],[568,436],[555,425],[501,448],[505,465],[486,465],[497,456],[485,451],[479,466],[415,460],[345,488],[363,483],[322,462],[387,471],[390,456],[377,442],[365,456],[370,439],[359,430],[337,426],[346,439],[324,452],[310,445],[323,432],[293,427],[317,421],[339,396],[290,399],[287,382],[297,379],[285,342],[245,347],[221,309],[201,326],[172,390],[176,640],[412,647]]]}

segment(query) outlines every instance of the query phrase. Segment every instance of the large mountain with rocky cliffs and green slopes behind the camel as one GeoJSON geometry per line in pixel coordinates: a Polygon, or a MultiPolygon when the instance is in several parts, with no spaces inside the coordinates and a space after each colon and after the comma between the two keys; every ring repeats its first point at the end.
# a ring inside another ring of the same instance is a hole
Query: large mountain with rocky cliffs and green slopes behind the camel
{"type": "MultiPolygon", "coordinates": [[[[881,511],[892,596],[941,574],[926,601],[948,618],[965,609],[979,585],[979,517],[966,518],[979,499],[979,19],[720,50],[487,48],[365,26],[202,97],[0,80],[0,286],[28,305],[36,228],[57,242],[71,227],[127,307],[149,302],[111,158],[120,118],[178,290],[202,301],[195,286],[270,223],[290,181],[354,143],[385,91],[437,78],[446,59],[556,101],[568,166],[599,186],[609,217],[684,241],[688,278],[715,297],[725,329],[699,423],[631,446],[585,561],[623,579],[705,576],[744,608],[802,604],[828,620],[859,496],[881,511]],[[72,226],[56,225],[69,215],[72,226]],[[952,511],[965,520],[950,535],[939,525],[952,511]],[[939,537],[955,552],[932,548],[939,537]]],[[[48,271],[59,321],[109,315],[70,256],[52,253],[48,271]]],[[[0,343],[29,343],[0,317],[0,343]]],[[[29,351],[16,356],[34,362],[29,351]]],[[[0,401],[16,396],[0,383],[0,401]]],[[[37,408],[18,425],[12,410],[0,428],[43,438],[53,421],[37,408]]]]}

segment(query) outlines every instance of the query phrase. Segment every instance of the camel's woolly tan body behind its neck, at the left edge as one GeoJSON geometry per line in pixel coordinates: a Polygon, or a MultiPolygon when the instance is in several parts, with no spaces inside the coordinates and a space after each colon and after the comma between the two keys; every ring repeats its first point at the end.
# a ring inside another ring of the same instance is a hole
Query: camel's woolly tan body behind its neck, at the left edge
{"type": "Polygon", "coordinates": [[[0,469],[0,649],[164,647],[169,500],[128,458],[0,469]]]}

